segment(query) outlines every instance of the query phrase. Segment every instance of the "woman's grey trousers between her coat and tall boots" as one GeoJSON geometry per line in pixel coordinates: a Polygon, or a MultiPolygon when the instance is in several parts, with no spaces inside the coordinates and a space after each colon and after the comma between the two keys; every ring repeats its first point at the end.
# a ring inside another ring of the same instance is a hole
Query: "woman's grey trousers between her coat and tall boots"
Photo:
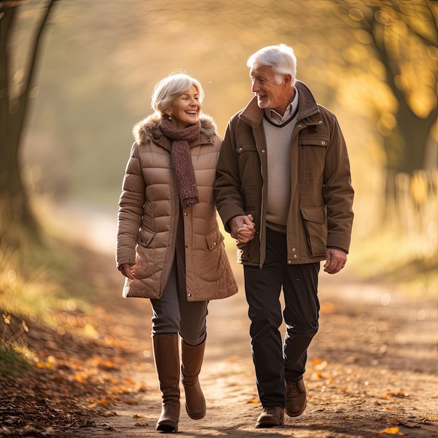
{"type": "Polygon", "coordinates": [[[208,301],[188,302],[178,286],[176,262],[160,299],[151,299],[152,334],[179,333],[185,344],[196,346],[206,339],[208,301]]]}

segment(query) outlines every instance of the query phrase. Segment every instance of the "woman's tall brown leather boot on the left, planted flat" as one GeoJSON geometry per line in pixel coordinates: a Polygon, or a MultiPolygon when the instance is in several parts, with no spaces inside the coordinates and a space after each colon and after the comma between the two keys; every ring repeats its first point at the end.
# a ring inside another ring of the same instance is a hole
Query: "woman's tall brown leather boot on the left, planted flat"
{"type": "Polygon", "coordinates": [[[156,430],[176,432],[180,411],[179,335],[155,334],[153,337],[155,367],[162,392],[162,410],[156,430]]]}

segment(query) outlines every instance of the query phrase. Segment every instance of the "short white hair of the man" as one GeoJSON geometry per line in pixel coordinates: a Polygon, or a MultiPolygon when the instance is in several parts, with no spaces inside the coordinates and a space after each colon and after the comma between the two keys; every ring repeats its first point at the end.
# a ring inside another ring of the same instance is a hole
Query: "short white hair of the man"
{"type": "Polygon", "coordinates": [[[292,76],[291,86],[295,85],[297,57],[289,45],[268,45],[251,55],[246,65],[250,69],[257,66],[270,66],[278,83],[283,80],[283,75],[290,74],[292,76]]]}

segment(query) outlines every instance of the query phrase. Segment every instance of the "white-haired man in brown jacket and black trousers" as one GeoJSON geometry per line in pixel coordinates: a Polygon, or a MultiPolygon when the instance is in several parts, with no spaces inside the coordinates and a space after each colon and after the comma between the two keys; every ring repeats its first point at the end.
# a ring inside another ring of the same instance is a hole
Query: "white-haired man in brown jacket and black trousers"
{"type": "Polygon", "coordinates": [[[329,274],[345,266],[353,223],[344,137],[334,114],[296,80],[296,66],[284,44],[248,59],[255,96],[229,120],[215,184],[216,206],[243,264],[263,406],[256,428],[282,425],[284,411],[295,417],[306,407],[320,262],[329,274]]]}

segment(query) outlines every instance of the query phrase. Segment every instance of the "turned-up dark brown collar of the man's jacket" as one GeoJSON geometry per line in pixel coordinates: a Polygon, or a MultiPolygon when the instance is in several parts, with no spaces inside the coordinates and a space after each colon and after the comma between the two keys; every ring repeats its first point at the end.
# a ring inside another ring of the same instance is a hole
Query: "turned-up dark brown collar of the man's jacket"
{"type": "MultiPolygon", "coordinates": [[[[298,94],[298,120],[303,120],[304,118],[310,117],[319,112],[318,104],[309,87],[302,82],[297,80],[295,87],[299,92],[298,94]]],[[[253,128],[260,125],[263,120],[264,110],[259,108],[257,105],[257,97],[253,97],[248,103],[248,105],[243,108],[239,113],[239,118],[247,122],[253,128]]]]}

